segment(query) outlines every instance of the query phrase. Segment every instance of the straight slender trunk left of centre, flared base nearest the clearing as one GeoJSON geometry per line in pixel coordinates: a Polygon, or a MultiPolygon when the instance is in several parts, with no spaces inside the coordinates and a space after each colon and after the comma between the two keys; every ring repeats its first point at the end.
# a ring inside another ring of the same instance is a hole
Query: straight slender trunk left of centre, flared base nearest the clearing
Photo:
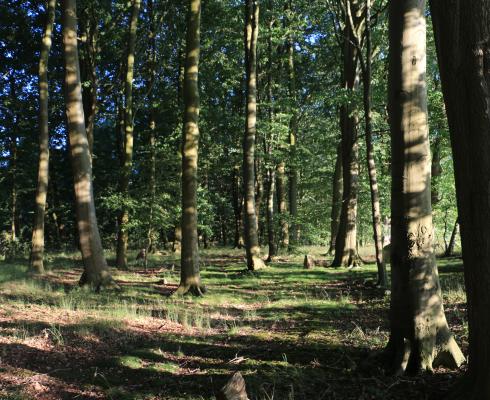
{"type": "Polygon", "coordinates": [[[182,254],[177,293],[202,295],[197,234],[201,0],[189,0],[188,4],[182,141],[182,254]]]}

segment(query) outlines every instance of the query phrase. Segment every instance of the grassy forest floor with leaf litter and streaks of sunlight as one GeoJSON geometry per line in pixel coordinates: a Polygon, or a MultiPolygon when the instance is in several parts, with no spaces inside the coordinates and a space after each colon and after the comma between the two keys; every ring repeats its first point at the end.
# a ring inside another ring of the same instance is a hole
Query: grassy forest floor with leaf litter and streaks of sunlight
{"type": "MultiPolygon", "coordinates": [[[[80,260],[0,262],[0,399],[211,400],[234,371],[251,400],[438,399],[461,371],[389,377],[373,357],[388,339],[389,297],[374,265],[303,269],[301,249],[256,273],[243,253],[202,254],[203,298],[168,297],[178,260],[113,271],[123,290],[77,287],[80,260]],[[164,279],[167,281],[164,284],[164,279]]],[[[134,257],[133,257],[134,259],[134,257]]],[[[466,350],[462,264],[439,261],[445,308],[466,350]]]]}

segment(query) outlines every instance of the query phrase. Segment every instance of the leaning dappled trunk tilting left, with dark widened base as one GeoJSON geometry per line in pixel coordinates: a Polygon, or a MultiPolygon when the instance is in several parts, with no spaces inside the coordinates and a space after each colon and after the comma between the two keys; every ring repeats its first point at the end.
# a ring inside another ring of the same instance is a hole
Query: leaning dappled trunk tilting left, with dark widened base
{"type": "Polygon", "coordinates": [[[65,96],[68,136],[75,183],[75,202],[80,250],[84,264],[81,285],[96,289],[113,283],[97,226],[92,185],[92,164],[82,105],[77,45],[76,0],[63,1],[65,96]]]}

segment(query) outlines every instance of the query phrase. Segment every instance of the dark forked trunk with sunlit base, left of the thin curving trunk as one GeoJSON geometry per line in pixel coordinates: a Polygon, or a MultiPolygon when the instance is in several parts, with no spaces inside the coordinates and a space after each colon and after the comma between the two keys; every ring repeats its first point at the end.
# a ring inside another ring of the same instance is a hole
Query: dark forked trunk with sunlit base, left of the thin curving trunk
{"type": "MultiPolygon", "coordinates": [[[[343,69],[342,87],[353,92],[359,84],[358,51],[354,44],[356,35],[352,28],[359,30],[362,26],[362,16],[359,15],[357,0],[348,0],[348,7],[352,9],[353,27],[346,23],[343,39],[343,69]]],[[[351,14],[346,11],[347,14],[351,14]]],[[[340,212],[339,230],[335,241],[335,257],[333,267],[350,267],[357,262],[357,193],[359,186],[358,143],[357,143],[357,116],[349,104],[340,108],[340,130],[342,133],[342,173],[343,194],[342,209],[340,212]]]]}

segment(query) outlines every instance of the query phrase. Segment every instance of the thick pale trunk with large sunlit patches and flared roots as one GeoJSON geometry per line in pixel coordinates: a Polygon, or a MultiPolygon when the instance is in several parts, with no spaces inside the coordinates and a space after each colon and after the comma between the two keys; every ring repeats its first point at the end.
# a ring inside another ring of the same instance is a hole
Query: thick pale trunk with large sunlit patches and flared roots
{"type": "Polygon", "coordinates": [[[389,367],[458,367],[464,356],[444,314],[433,249],[427,126],[425,1],[389,6],[392,153],[389,367]]]}

